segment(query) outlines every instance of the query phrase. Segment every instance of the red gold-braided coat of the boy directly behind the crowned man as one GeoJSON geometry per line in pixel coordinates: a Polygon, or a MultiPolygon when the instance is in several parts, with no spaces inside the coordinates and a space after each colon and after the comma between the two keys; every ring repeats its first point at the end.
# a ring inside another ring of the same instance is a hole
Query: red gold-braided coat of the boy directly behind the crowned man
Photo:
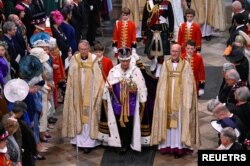
{"type": "Polygon", "coordinates": [[[136,47],[136,27],[133,21],[116,21],[113,32],[113,47],[136,47]]]}

